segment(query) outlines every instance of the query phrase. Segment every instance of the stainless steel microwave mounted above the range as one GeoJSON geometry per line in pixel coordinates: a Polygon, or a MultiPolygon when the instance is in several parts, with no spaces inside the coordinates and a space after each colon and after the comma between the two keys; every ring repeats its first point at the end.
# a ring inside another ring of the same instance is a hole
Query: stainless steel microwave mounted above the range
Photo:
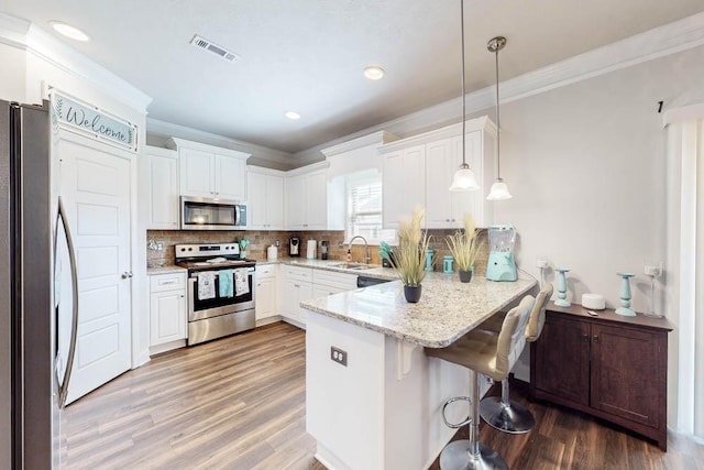
{"type": "Polygon", "coordinates": [[[246,227],[246,205],[237,200],[180,197],[182,230],[241,230],[246,227]]]}

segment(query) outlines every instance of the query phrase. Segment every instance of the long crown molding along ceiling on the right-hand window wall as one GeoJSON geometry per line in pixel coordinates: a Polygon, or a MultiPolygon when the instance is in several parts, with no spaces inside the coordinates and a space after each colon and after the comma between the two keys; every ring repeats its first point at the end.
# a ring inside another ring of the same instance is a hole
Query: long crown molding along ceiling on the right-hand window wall
{"type": "MultiPolygon", "coordinates": [[[[501,81],[501,103],[539,95],[701,45],[704,45],[704,12],[501,81]]],[[[492,85],[466,94],[465,117],[495,106],[494,89],[492,85]]],[[[461,109],[462,97],[453,98],[298,152],[295,157],[297,161],[312,160],[318,152],[327,146],[382,130],[408,138],[419,132],[461,121],[461,109]]]]}

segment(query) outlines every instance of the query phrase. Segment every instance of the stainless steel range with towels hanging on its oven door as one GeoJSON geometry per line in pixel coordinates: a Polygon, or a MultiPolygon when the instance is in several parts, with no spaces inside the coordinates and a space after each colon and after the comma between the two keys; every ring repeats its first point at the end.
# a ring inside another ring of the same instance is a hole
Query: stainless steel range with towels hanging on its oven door
{"type": "Polygon", "coordinates": [[[176,264],[188,270],[188,346],[254,328],[256,266],[238,243],[177,244],[176,264]]]}

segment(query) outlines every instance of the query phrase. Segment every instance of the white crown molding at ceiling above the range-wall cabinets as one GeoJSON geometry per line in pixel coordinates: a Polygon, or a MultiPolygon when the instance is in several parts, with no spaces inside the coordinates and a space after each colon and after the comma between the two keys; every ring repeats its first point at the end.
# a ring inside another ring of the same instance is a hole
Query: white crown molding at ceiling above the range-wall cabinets
{"type": "Polygon", "coordinates": [[[188,128],[186,125],[174,124],[173,122],[161,121],[154,118],[146,118],[146,133],[152,135],[161,135],[167,138],[180,138],[194,142],[202,142],[224,149],[245,152],[255,156],[257,160],[265,160],[277,164],[284,164],[293,167],[292,154],[279,150],[270,149],[250,142],[240,141],[224,135],[213,134],[200,131],[198,129],[188,128]]]}

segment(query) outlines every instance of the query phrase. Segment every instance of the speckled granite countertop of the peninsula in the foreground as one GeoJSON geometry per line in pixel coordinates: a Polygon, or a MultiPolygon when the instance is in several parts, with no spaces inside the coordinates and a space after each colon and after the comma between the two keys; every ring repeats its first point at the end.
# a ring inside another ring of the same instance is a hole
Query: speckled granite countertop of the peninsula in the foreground
{"type": "Polygon", "coordinates": [[[532,278],[493,282],[479,276],[465,284],[457,273],[432,272],[422,282],[417,304],[406,302],[398,281],[301,302],[300,306],[426,348],[444,348],[536,285],[532,278]]]}

